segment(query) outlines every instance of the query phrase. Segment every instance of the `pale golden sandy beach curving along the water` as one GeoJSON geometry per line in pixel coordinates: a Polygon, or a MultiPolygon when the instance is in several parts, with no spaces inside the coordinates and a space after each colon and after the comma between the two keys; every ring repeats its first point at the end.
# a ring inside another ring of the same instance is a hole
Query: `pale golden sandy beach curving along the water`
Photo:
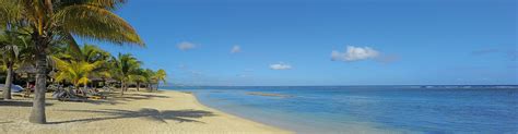
{"type": "Polygon", "coordinates": [[[28,123],[31,99],[0,101],[0,133],[292,133],[205,107],[189,93],[128,92],[86,102],[47,95],[48,124],[28,123]]]}

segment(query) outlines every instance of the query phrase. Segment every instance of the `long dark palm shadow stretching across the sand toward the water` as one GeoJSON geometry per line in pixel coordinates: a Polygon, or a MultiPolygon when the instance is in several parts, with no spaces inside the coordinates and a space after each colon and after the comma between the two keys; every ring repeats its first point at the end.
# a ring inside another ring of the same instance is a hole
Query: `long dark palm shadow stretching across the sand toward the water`
{"type": "Polygon", "coordinates": [[[129,119],[129,118],[143,118],[143,119],[146,119],[146,120],[157,121],[157,122],[162,122],[162,123],[167,123],[166,120],[173,120],[173,121],[177,121],[179,123],[183,123],[183,122],[204,123],[204,122],[201,122],[201,121],[197,121],[195,119],[215,115],[214,113],[212,113],[210,111],[192,110],[192,109],[158,111],[156,109],[143,108],[143,109],[140,109],[138,111],[118,110],[118,109],[64,110],[64,111],[68,111],[68,112],[85,112],[85,113],[103,113],[103,114],[108,114],[110,117],[75,119],[75,120],[70,120],[70,121],[58,121],[58,122],[50,122],[50,124],[61,124],[61,123],[72,123],[72,122],[94,122],[94,121],[129,119]]]}

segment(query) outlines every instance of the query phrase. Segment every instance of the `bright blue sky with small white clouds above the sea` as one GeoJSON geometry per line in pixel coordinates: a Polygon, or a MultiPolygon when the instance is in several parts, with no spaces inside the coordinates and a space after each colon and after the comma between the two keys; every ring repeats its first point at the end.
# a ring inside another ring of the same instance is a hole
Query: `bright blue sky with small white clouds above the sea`
{"type": "Polygon", "coordinates": [[[146,47],[94,44],[175,84],[518,84],[515,0],[130,0],[117,14],[146,47]]]}

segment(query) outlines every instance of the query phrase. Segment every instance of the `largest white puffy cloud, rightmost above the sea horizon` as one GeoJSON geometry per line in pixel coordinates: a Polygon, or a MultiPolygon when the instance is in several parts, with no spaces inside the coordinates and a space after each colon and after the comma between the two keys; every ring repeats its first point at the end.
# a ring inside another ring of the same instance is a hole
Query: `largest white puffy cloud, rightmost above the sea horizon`
{"type": "Polygon", "coordinates": [[[340,52],[338,50],[333,50],[331,52],[331,59],[333,61],[346,61],[346,62],[373,59],[378,56],[379,56],[379,52],[369,47],[354,47],[354,46],[348,46],[348,49],[344,52],[340,52]]]}

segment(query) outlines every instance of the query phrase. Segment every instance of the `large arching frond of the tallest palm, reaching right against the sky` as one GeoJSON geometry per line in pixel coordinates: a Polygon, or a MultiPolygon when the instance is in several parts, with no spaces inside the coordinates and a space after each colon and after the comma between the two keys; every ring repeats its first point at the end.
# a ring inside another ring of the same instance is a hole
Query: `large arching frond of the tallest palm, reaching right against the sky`
{"type": "Polygon", "coordinates": [[[63,29],[82,38],[109,41],[117,45],[134,44],[144,46],[131,25],[109,10],[74,4],[56,13],[55,20],[63,29]]]}

